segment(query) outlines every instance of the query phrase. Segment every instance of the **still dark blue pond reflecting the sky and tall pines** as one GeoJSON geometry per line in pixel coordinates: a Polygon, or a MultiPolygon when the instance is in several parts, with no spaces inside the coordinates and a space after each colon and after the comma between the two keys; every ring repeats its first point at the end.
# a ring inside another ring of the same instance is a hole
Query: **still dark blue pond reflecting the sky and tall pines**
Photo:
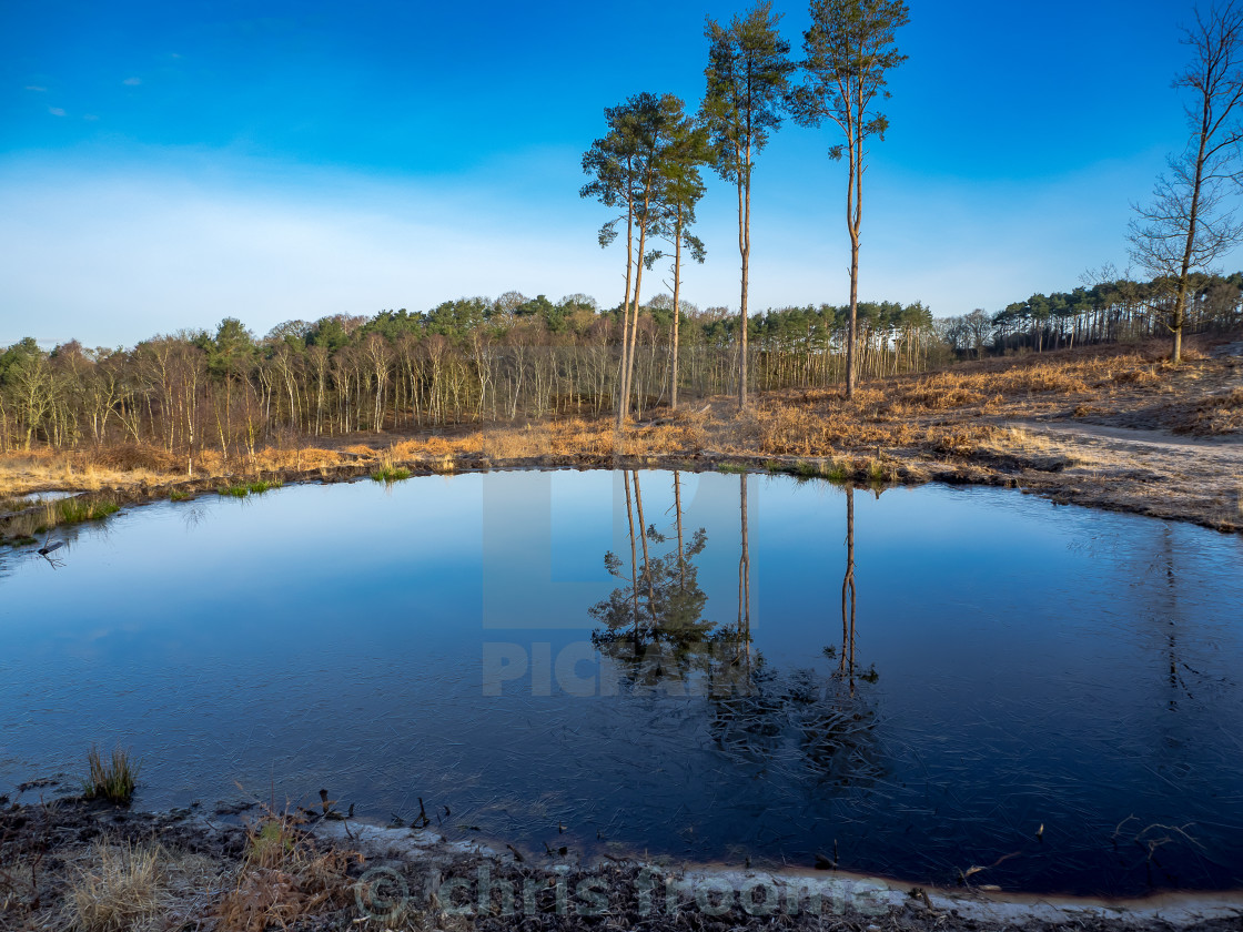
{"type": "Polygon", "coordinates": [[[65,539],[0,555],[0,793],[121,743],[147,808],[326,788],[538,852],[1243,886],[1237,537],[989,488],[520,471],[65,539]]]}

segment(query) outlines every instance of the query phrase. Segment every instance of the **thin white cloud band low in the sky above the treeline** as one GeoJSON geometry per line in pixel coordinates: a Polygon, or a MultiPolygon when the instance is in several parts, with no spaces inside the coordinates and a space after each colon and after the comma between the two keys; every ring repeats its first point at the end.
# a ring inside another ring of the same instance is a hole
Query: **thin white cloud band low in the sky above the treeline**
{"type": "MultiPolygon", "coordinates": [[[[608,211],[574,196],[579,176],[567,158],[516,157],[425,181],[220,153],[111,171],[0,162],[0,255],[9,260],[0,263],[0,345],[32,319],[114,345],[226,316],[262,333],[293,318],[419,311],[508,290],[553,299],[584,292],[609,306],[622,297],[624,251],[599,249],[608,211]],[[513,179],[525,179],[517,193],[513,179]]],[[[1073,288],[1089,266],[1125,265],[1127,200],[1156,168],[1160,153],[1023,184],[878,171],[860,297],[921,299],[951,314],[1073,288]]],[[[772,181],[758,191],[753,311],[846,301],[839,180],[808,176],[798,198],[772,181]]],[[[732,191],[713,180],[697,230],[709,261],[687,263],[682,282],[700,307],[738,306],[735,210],[732,191]]],[[[665,291],[667,277],[667,267],[646,273],[643,298],[665,291]]]]}

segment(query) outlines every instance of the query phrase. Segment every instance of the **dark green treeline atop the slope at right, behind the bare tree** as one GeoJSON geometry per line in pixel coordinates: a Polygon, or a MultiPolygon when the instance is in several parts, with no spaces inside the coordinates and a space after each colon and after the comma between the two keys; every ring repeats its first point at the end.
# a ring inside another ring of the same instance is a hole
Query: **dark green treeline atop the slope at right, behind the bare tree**
{"type": "MultiPolygon", "coordinates": [[[[1117,278],[1069,292],[1033,295],[992,314],[977,308],[937,324],[945,342],[960,357],[1021,349],[1039,353],[1168,337],[1177,295],[1178,282],[1173,277],[1147,282],[1117,278]]],[[[1188,333],[1243,327],[1243,272],[1191,273],[1183,327],[1188,333]]]]}

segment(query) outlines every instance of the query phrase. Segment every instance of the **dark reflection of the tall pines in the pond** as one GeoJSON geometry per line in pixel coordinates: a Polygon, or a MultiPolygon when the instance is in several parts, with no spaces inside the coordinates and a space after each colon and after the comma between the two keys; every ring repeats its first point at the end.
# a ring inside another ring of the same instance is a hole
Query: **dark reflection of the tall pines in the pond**
{"type": "Polygon", "coordinates": [[[705,618],[709,599],[696,565],[707,534],[684,527],[680,475],[674,472],[674,527],[666,534],[646,523],[640,478],[624,471],[631,560],[626,567],[617,554],[604,555],[623,585],[590,606],[598,621],[592,641],[602,660],[615,665],[623,692],[702,697],[681,713],[702,716],[713,744],[737,763],[762,772],[810,768],[819,785],[866,787],[885,765],[869,688],[878,677],[870,669],[860,674],[855,662],[853,490],[846,490],[840,655],[837,646],[824,649],[838,664],[829,672],[813,666],[782,672],[753,649],[747,478],[738,477],[737,615],[717,624],[705,618]]]}

